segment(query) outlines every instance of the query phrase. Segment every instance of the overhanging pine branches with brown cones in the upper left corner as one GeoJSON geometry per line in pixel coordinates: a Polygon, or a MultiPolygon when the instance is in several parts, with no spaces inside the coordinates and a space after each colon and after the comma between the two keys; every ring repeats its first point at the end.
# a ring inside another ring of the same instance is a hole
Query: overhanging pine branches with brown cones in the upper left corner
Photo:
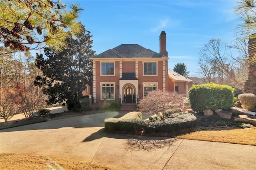
{"type": "Polygon", "coordinates": [[[1,0],[0,42],[14,51],[29,51],[48,46],[61,51],[67,43],[67,30],[79,30],[76,22],[82,10],[72,4],[51,0],[1,0]]]}

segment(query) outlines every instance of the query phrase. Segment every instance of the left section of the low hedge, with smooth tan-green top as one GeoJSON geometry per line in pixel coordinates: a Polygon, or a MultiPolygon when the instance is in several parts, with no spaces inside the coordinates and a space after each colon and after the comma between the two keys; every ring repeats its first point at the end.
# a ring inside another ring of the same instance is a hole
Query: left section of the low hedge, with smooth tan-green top
{"type": "Polygon", "coordinates": [[[120,118],[108,118],[105,119],[105,130],[107,132],[115,131],[126,131],[136,132],[140,129],[142,121],[142,113],[130,112],[120,118]]]}

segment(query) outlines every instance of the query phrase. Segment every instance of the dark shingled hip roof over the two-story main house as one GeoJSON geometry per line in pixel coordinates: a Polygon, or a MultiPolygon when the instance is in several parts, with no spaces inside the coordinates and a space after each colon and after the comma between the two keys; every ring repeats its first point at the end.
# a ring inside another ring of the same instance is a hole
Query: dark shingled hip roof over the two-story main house
{"type": "Polygon", "coordinates": [[[121,44],[92,58],[162,58],[166,57],[138,44],[121,44]]]}

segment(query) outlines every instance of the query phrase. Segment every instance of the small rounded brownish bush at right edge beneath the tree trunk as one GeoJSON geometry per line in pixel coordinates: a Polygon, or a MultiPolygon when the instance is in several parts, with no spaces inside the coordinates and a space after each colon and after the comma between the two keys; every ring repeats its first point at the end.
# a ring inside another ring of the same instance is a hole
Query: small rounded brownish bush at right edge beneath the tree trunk
{"type": "Polygon", "coordinates": [[[238,99],[242,104],[242,108],[247,109],[248,111],[254,111],[256,106],[256,95],[252,93],[245,93],[238,95],[238,99]]]}

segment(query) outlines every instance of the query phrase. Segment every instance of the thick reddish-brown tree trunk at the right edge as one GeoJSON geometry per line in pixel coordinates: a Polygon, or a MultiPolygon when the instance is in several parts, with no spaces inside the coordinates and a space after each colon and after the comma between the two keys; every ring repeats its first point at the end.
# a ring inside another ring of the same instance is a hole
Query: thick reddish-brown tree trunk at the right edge
{"type": "Polygon", "coordinates": [[[252,48],[256,43],[256,38],[249,36],[249,73],[248,79],[244,83],[244,93],[253,93],[256,95],[256,63],[250,62],[250,59],[256,55],[256,49],[252,48]]]}

